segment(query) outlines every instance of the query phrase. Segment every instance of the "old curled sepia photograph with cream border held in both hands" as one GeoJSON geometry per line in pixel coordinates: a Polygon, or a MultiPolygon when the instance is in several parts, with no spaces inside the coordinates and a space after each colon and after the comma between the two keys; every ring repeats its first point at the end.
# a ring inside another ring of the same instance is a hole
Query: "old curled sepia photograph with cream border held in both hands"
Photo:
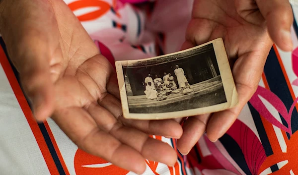
{"type": "Polygon", "coordinates": [[[235,87],[221,41],[156,58],[117,61],[124,117],[188,117],[235,106],[237,95],[231,94],[235,87]]]}

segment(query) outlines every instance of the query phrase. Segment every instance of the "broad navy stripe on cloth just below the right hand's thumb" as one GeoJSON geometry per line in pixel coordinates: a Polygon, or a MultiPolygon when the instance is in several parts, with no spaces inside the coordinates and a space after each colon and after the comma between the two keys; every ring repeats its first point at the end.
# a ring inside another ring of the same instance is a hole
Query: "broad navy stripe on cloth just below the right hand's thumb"
{"type": "MultiPolygon", "coordinates": [[[[286,108],[290,110],[292,104],[294,103],[294,100],[292,98],[291,92],[289,90],[289,87],[287,85],[287,81],[285,79],[285,76],[283,74],[282,68],[279,64],[278,58],[276,56],[276,53],[274,49],[272,48],[265,67],[264,67],[264,73],[269,85],[270,90],[276,94],[281,101],[285,104],[286,108]]],[[[284,118],[281,116],[283,124],[287,126],[288,124],[284,120],[284,118]]],[[[294,108],[293,114],[292,114],[292,132],[298,130],[298,113],[297,109],[294,108]]],[[[290,138],[289,133],[287,133],[288,138],[290,138]]]]}

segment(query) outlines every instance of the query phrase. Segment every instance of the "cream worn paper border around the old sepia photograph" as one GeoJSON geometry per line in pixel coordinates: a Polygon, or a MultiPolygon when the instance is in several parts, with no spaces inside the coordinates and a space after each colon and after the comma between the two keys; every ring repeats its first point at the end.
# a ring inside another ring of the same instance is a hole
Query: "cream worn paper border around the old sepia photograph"
{"type": "Polygon", "coordinates": [[[236,92],[235,83],[233,80],[232,72],[229,66],[228,58],[224,48],[224,42],[222,38],[215,39],[208,43],[202,44],[200,46],[196,46],[184,51],[179,51],[172,54],[167,54],[163,56],[158,56],[154,58],[147,58],[147,59],[138,59],[138,60],[124,60],[124,61],[116,61],[116,71],[119,83],[119,90],[120,90],[120,97],[121,97],[121,104],[122,104],[122,111],[123,116],[127,119],[143,119],[143,120],[157,120],[157,119],[169,119],[169,118],[178,118],[178,117],[189,117],[189,116],[196,116],[200,114],[208,114],[223,111],[225,109],[232,108],[238,104],[238,95],[236,92]],[[129,112],[129,105],[128,105],[128,98],[127,92],[125,87],[125,80],[123,74],[123,66],[128,66],[135,62],[146,61],[150,59],[158,59],[167,56],[176,55],[179,53],[183,53],[186,51],[191,51],[194,49],[201,48],[203,46],[213,44],[213,48],[215,51],[215,56],[218,62],[219,70],[221,73],[221,78],[224,86],[224,94],[226,98],[225,103],[212,105],[203,108],[197,109],[190,109],[190,110],[183,110],[183,111],[175,111],[175,112],[167,112],[167,113],[146,113],[146,114],[136,114],[129,112]]]}

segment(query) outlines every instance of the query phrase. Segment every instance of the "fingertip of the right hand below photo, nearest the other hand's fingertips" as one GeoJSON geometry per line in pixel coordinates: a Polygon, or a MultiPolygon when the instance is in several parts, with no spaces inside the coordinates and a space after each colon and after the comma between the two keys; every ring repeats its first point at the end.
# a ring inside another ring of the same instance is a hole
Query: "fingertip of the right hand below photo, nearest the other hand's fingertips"
{"type": "Polygon", "coordinates": [[[183,135],[177,140],[177,148],[181,154],[187,155],[206,130],[210,114],[188,117],[183,123],[183,135]]]}

